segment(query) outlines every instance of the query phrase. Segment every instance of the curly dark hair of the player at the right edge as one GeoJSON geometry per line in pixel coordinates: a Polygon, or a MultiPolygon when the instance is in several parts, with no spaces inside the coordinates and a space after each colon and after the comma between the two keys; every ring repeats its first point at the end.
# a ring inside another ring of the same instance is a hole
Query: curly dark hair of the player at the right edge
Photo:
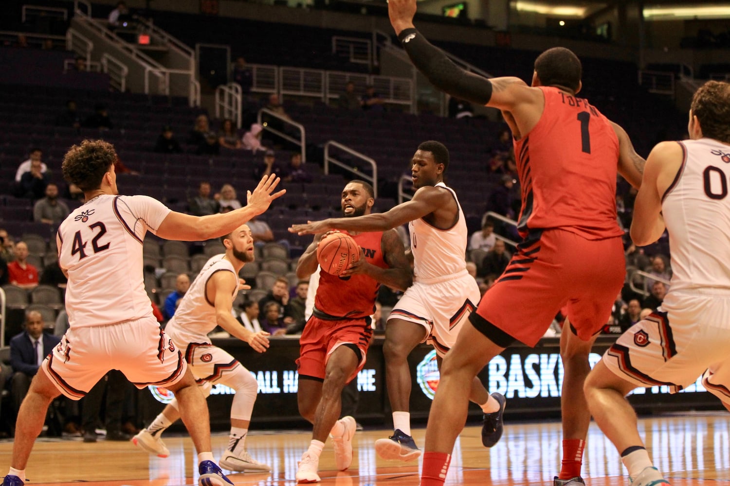
{"type": "Polygon", "coordinates": [[[690,109],[699,119],[702,136],[730,144],[730,83],[704,83],[694,93],[690,109]]]}

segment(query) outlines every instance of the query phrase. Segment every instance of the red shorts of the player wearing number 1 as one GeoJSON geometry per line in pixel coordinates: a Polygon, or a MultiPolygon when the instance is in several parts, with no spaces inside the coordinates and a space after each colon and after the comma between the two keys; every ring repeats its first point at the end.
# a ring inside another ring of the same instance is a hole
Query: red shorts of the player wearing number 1
{"type": "MultiPolygon", "coordinates": [[[[565,230],[544,230],[539,239],[520,245],[476,313],[534,346],[566,307],[575,334],[587,341],[608,321],[625,275],[621,238],[586,240],[565,230]]],[[[483,326],[476,327],[489,337],[483,326]]]]}

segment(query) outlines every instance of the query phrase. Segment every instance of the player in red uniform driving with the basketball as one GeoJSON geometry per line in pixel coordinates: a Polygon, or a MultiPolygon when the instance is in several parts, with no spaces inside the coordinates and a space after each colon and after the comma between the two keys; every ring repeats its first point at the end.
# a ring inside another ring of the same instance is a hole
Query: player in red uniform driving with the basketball
{"type": "MultiPolygon", "coordinates": [[[[364,181],[350,181],[342,189],[345,217],[369,214],[374,204],[373,189],[364,181]]],[[[412,283],[410,262],[395,230],[350,232],[362,256],[339,277],[320,270],[320,281],[312,317],[304,326],[299,343],[299,413],[314,424],[312,442],[301,456],[297,482],[319,482],[319,457],[331,436],[337,469],[345,471],[353,461],[352,439],[355,419],[339,417],[342,388],[365,364],[372,337],[370,315],[380,284],[405,290],[412,283]]],[[[299,259],[296,276],[309,278],[318,268],[316,235],[299,259]]]]}

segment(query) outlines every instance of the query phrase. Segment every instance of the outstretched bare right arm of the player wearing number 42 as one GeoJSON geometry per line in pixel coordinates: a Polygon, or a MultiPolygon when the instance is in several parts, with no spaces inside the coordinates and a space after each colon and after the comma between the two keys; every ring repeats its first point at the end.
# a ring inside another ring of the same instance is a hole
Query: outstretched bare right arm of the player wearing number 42
{"type": "Polygon", "coordinates": [[[166,240],[182,241],[209,240],[227,235],[254,216],[264,213],[273,200],[284,195],[286,189],[274,192],[279,181],[276,174],[262,177],[253,192],[247,192],[247,205],[228,213],[191,216],[173,211],[167,215],[155,234],[166,240]]]}

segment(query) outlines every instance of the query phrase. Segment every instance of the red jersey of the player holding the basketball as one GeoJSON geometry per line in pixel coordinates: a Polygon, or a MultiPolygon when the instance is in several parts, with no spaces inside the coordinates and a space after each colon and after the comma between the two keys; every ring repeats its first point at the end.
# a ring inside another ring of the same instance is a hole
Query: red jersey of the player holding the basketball
{"type": "MultiPolygon", "coordinates": [[[[343,233],[346,233],[343,231],[343,233]]],[[[383,258],[380,240],[383,232],[367,232],[352,236],[365,251],[368,263],[388,268],[383,258]]],[[[339,278],[320,270],[320,283],[315,296],[315,308],[335,317],[363,318],[372,315],[380,283],[366,275],[339,278]]]]}

